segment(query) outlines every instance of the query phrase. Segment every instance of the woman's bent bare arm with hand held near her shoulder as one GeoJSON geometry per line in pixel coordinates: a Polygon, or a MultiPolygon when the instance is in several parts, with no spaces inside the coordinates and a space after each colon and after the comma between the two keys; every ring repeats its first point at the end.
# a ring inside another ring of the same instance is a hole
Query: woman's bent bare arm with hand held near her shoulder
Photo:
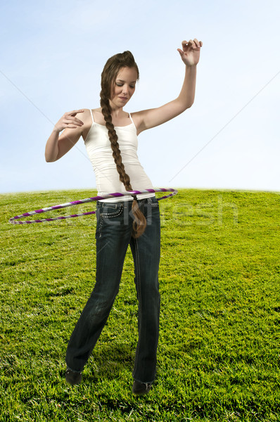
{"type": "Polygon", "coordinates": [[[48,141],[46,141],[45,158],[46,162],[53,162],[63,157],[70,149],[79,141],[82,135],[82,120],[79,120],[75,115],[83,113],[84,110],[73,110],[67,112],[55,124],[53,132],[48,141]],[[59,133],[63,133],[59,136],[59,133]]]}

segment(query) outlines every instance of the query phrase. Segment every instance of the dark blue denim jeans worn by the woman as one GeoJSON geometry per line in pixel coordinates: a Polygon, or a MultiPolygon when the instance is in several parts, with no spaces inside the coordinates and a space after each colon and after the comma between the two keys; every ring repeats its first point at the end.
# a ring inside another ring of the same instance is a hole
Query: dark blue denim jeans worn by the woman
{"type": "Polygon", "coordinates": [[[160,316],[160,210],[155,197],[139,200],[147,226],[144,234],[135,239],[132,237],[131,208],[132,201],[96,203],[96,283],[69,340],[66,363],[73,371],[84,369],[118,293],[130,245],[139,305],[139,339],[133,377],[141,383],[152,383],[155,379],[160,316]]]}

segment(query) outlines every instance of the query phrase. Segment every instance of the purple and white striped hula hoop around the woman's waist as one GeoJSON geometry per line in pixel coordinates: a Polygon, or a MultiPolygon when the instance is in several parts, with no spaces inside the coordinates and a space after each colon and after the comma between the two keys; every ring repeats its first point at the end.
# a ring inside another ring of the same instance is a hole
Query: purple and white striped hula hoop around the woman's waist
{"type": "Polygon", "coordinates": [[[104,196],[94,196],[93,198],[85,198],[85,199],[80,199],[80,200],[74,200],[70,203],[53,205],[52,207],[42,208],[41,210],[24,212],[23,214],[15,215],[15,217],[11,217],[8,220],[8,222],[11,224],[32,224],[32,223],[53,222],[54,220],[81,217],[82,215],[95,214],[96,212],[95,211],[82,212],[81,214],[72,214],[72,215],[65,215],[61,217],[37,219],[37,220],[30,220],[30,221],[24,221],[24,222],[15,221],[18,219],[22,219],[23,217],[27,217],[28,215],[41,214],[42,212],[47,212],[47,211],[52,211],[52,210],[60,210],[61,208],[72,207],[73,205],[84,204],[84,203],[88,203],[94,200],[101,200],[101,199],[106,199],[106,198],[119,198],[120,196],[139,195],[141,193],[155,193],[155,192],[171,192],[169,195],[160,196],[160,198],[157,198],[158,200],[170,198],[170,196],[174,196],[176,195],[176,193],[178,193],[178,191],[173,188],[144,189],[143,191],[127,191],[125,193],[120,193],[120,192],[108,193],[108,195],[104,195],[104,196]]]}

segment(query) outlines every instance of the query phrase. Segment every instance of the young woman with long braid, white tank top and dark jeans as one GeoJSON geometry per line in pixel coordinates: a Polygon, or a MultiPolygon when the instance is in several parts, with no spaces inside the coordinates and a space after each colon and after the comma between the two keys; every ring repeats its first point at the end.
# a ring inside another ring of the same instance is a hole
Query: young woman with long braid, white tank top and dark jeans
{"type": "MultiPolygon", "coordinates": [[[[46,161],[59,160],[82,135],[96,174],[98,195],[153,188],[137,157],[137,136],[191,107],[201,46],[201,41],[190,39],[182,41],[182,49],[177,49],[186,66],[182,91],[177,98],[159,108],[132,114],[123,108],[139,79],[134,57],[125,51],[109,58],[101,74],[101,107],[65,113],[46,142],[46,161]]],[[[139,302],[139,340],[132,391],[136,395],[146,394],[155,379],[160,315],[158,200],[154,193],[99,200],[96,218],[96,283],[68,343],[65,378],[71,385],[82,380],[84,365],[117,295],[130,245],[139,302]]]]}

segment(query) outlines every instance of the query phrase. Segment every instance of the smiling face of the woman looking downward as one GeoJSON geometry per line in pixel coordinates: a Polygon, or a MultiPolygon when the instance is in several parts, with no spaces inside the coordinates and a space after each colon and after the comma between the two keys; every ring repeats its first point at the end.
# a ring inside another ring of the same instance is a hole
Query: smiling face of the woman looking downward
{"type": "Polygon", "coordinates": [[[110,103],[113,106],[124,107],[135,91],[138,74],[135,68],[121,68],[113,86],[110,103]]]}

